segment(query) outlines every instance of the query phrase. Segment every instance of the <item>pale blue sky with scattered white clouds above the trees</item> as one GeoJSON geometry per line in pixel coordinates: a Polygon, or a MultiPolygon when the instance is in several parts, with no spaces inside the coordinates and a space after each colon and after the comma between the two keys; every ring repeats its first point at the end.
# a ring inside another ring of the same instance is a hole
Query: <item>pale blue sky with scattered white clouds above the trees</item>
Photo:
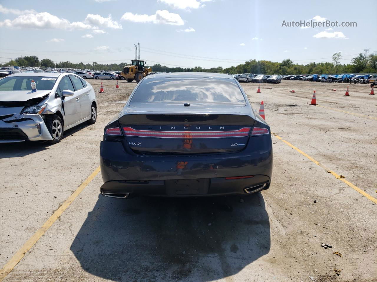
{"type": "MultiPolygon", "coordinates": [[[[37,55],[55,62],[229,67],[248,59],[350,62],[377,51],[375,11],[354,1],[0,1],[0,62],[37,55]],[[356,7],[355,7],[356,8],[356,7]],[[357,22],[357,27],[282,27],[283,21],[357,22]],[[332,28],[332,29],[331,29],[332,28]]],[[[372,5],[373,6],[373,5],[372,5]]]]}

